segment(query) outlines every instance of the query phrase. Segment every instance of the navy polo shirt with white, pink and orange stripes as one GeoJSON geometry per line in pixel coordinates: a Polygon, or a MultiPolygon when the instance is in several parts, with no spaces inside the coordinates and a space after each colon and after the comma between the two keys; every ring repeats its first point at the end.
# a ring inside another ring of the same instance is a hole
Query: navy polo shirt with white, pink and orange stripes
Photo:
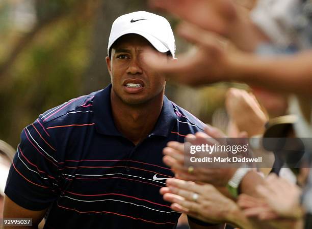
{"type": "Polygon", "coordinates": [[[162,150],[204,123],[164,96],[148,137],[134,145],[117,130],[111,85],[39,116],[21,133],[5,193],[19,206],[48,209],[44,228],[175,228],[180,213],[159,189],[173,177],[162,150]]]}

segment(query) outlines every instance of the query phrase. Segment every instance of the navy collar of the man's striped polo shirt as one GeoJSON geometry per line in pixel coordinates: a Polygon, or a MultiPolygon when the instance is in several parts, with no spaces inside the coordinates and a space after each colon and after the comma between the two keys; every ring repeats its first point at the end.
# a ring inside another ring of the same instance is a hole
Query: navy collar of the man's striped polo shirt
{"type": "MultiPolygon", "coordinates": [[[[112,84],[97,92],[93,99],[93,122],[98,133],[123,136],[116,128],[111,106],[112,84]]],[[[168,137],[176,122],[176,114],[171,101],[164,96],[162,111],[151,135],[168,137]]]]}

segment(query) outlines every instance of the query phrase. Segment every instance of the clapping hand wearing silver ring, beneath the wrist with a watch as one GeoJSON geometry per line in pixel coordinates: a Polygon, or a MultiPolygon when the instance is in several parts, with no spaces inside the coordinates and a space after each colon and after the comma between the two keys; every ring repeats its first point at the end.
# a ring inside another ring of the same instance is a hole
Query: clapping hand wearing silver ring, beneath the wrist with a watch
{"type": "Polygon", "coordinates": [[[186,213],[206,222],[226,222],[239,211],[232,200],[222,195],[213,185],[199,185],[178,179],[167,179],[167,186],[161,188],[164,200],[171,202],[174,211],[186,213]],[[194,200],[193,194],[198,198],[194,200]]]}

